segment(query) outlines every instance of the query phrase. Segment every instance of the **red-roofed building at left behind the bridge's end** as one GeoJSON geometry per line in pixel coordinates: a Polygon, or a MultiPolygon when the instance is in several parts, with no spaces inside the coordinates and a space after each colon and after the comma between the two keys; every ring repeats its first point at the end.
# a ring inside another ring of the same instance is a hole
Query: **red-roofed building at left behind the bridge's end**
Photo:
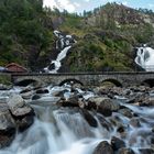
{"type": "Polygon", "coordinates": [[[28,69],[24,68],[23,66],[20,66],[19,64],[16,63],[11,63],[11,64],[8,64],[6,66],[6,68],[11,72],[11,73],[26,73],[28,69]]]}

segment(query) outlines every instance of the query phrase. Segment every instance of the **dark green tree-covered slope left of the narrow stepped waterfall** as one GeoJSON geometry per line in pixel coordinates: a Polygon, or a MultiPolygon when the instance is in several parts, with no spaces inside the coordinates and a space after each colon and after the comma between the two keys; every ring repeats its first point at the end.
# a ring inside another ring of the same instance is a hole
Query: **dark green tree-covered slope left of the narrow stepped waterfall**
{"type": "Polygon", "coordinates": [[[32,68],[47,56],[53,33],[42,6],[42,0],[0,1],[0,65],[15,62],[32,68]]]}

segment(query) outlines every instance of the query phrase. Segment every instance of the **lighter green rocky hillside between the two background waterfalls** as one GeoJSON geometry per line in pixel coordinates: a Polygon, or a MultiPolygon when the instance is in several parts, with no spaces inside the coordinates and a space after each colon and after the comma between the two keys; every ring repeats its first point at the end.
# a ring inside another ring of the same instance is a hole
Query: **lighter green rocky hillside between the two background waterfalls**
{"type": "Polygon", "coordinates": [[[59,30],[78,36],[64,72],[134,70],[133,48],[154,43],[154,13],[148,10],[108,3],[82,16],[67,13],[62,19],[59,30]]]}

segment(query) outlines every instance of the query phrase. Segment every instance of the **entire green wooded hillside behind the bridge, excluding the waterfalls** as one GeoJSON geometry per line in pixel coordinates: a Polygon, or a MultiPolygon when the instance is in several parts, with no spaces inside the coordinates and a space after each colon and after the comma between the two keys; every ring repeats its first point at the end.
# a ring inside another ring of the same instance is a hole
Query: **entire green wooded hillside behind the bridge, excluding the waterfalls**
{"type": "Polygon", "coordinates": [[[45,67],[56,53],[54,29],[77,40],[63,72],[133,70],[133,47],[154,44],[151,10],[108,3],[79,15],[43,8],[42,0],[1,0],[0,65],[45,67]]]}

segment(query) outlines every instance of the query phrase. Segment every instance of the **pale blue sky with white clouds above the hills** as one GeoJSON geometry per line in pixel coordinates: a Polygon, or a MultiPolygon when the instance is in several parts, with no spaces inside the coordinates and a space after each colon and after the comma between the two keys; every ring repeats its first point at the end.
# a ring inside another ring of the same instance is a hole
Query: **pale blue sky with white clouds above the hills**
{"type": "Polygon", "coordinates": [[[132,8],[146,8],[154,11],[154,0],[44,0],[44,6],[65,9],[68,12],[82,12],[113,1],[132,8]]]}

